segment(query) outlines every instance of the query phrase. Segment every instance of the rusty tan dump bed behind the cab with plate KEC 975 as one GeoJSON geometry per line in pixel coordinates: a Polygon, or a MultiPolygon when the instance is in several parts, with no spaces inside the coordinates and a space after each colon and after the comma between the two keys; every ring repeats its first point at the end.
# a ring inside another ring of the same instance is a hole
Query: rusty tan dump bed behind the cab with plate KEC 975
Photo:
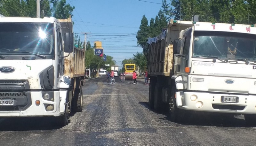
{"type": "MultiPolygon", "coordinates": [[[[62,33],[65,34],[69,31],[69,33],[73,33],[73,23],[71,18],[68,19],[59,19],[61,23],[61,27],[68,27],[68,29],[62,29],[62,33]]],[[[64,36],[63,36],[64,37],[64,36]]],[[[65,56],[68,56],[68,53],[64,53],[65,56]]],[[[84,50],[80,48],[76,48],[74,46],[73,52],[69,54],[68,57],[64,58],[64,74],[69,76],[70,78],[82,77],[85,73],[85,65],[84,65],[84,50]]]]}

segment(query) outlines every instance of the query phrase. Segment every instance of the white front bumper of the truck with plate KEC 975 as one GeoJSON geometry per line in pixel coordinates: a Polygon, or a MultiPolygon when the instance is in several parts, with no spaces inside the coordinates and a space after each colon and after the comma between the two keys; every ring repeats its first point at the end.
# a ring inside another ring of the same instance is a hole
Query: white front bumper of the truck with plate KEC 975
{"type": "MultiPolygon", "coordinates": [[[[31,91],[27,93],[28,103],[24,108],[12,108],[13,105],[0,105],[0,117],[41,117],[41,116],[60,116],[60,91],[51,91],[50,99],[44,100],[42,91],[31,91]],[[52,99],[52,100],[51,100],[52,99]],[[40,104],[36,104],[36,101],[40,101],[40,104]],[[52,105],[53,110],[47,111],[46,105],[52,105]],[[6,110],[12,109],[12,110],[6,110]]],[[[47,93],[47,92],[46,92],[47,93]]],[[[8,99],[10,97],[6,97],[8,99]]],[[[4,98],[1,98],[4,99],[4,98]]],[[[15,105],[20,105],[17,97],[15,99],[15,105]]],[[[65,100],[65,99],[64,99],[65,100]]]]}

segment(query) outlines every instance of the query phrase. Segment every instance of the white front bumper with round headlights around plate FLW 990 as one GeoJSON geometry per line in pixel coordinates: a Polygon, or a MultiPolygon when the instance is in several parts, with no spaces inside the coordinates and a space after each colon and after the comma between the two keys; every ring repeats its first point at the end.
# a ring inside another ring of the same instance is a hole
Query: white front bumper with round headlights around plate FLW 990
{"type": "Polygon", "coordinates": [[[176,92],[176,105],[180,109],[191,111],[256,114],[256,96],[253,95],[176,92]],[[197,96],[195,101],[191,100],[192,95],[197,96]],[[238,103],[223,103],[221,96],[236,96],[239,101],[238,103]]]}

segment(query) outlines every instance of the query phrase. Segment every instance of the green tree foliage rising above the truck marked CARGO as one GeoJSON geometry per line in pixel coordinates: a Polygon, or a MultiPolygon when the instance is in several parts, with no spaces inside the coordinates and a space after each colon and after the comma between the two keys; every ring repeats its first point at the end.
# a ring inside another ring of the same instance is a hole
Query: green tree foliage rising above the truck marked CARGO
{"type": "Polygon", "coordinates": [[[193,15],[199,15],[199,20],[203,22],[256,23],[255,0],[170,0],[170,4],[167,0],[162,2],[168,19],[174,17],[179,20],[181,17],[181,20],[191,21],[193,15]]]}

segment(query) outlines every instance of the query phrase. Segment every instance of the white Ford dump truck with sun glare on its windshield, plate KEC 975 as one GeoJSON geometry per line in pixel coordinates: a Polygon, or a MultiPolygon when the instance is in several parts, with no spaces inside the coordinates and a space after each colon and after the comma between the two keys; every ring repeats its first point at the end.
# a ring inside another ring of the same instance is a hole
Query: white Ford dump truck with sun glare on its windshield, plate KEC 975
{"type": "Polygon", "coordinates": [[[56,117],[82,111],[84,50],[71,18],[0,18],[0,117],[56,117]]]}

